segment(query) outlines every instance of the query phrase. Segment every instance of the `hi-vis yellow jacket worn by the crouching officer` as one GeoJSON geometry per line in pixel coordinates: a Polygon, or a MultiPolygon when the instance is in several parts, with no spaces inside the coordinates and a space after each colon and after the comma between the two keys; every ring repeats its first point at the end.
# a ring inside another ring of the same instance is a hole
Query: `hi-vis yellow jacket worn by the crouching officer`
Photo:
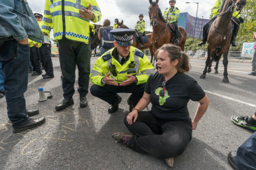
{"type": "Polygon", "coordinates": [[[98,58],[93,66],[93,69],[90,74],[91,82],[98,86],[102,86],[100,83],[101,79],[104,78],[109,72],[109,67],[111,64],[115,65],[115,70],[117,76],[114,76],[112,73],[109,78],[115,79],[114,82],[121,83],[125,80],[128,80],[126,75],[134,75],[137,77],[137,84],[143,84],[147,82],[150,74],[154,73],[154,68],[147,56],[142,53],[139,49],[132,47],[130,48],[130,57],[129,59],[121,65],[118,60],[113,57],[113,51],[116,48],[112,48],[98,58]],[[129,68],[129,64],[134,62],[135,67],[129,68]]]}

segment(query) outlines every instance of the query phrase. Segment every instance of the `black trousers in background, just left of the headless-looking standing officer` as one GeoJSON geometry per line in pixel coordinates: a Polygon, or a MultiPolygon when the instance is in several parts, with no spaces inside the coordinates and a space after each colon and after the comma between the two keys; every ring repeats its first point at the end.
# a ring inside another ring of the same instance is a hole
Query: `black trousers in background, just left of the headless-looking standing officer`
{"type": "Polygon", "coordinates": [[[52,76],[53,75],[53,66],[52,66],[52,57],[50,54],[50,45],[49,44],[42,44],[39,48],[40,57],[43,58],[43,67],[45,69],[46,75],[52,76]]]}

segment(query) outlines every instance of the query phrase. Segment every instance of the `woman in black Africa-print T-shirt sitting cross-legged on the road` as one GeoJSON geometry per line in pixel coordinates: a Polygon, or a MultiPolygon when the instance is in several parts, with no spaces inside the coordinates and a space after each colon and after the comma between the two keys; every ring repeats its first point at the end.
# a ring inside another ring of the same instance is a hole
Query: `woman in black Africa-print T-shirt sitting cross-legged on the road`
{"type": "Polygon", "coordinates": [[[156,51],[159,71],[149,76],[145,92],[124,123],[132,135],[118,132],[113,138],[136,152],[164,158],[173,166],[173,157],[181,155],[192,137],[192,130],[208,108],[209,100],[197,81],[185,74],[189,58],[178,46],[165,44],[156,51]],[[198,101],[191,122],[187,103],[198,101]],[[143,111],[152,103],[151,111],[143,111]]]}

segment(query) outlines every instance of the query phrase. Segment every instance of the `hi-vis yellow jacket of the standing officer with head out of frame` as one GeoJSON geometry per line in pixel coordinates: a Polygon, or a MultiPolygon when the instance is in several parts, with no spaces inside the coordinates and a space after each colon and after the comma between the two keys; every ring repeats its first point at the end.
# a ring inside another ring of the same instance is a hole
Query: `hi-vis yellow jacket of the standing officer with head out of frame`
{"type": "Polygon", "coordinates": [[[91,10],[94,15],[92,22],[101,19],[101,11],[96,0],[45,0],[45,12],[41,30],[50,35],[53,26],[54,40],[66,37],[70,40],[89,42],[89,20],[81,18],[79,10],[82,7],[91,10]]]}

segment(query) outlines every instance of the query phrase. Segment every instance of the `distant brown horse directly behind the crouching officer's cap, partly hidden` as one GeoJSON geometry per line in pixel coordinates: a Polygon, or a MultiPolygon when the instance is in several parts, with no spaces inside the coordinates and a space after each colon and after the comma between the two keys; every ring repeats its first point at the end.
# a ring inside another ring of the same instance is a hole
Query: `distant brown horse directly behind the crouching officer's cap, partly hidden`
{"type": "MultiPolygon", "coordinates": [[[[123,20],[122,20],[122,22],[119,22],[117,28],[128,28],[123,23],[124,23],[123,20]]],[[[148,42],[144,43],[144,48],[141,48],[140,47],[141,43],[135,41],[135,35],[134,35],[134,37],[133,37],[134,43],[132,44],[132,46],[136,47],[137,49],[147,49],[147,48],[149,48],[149,51],[151,53],[151,60],[150,60],[150,62],[154,66],[154,62],[155,62],[156,58],[154,58],[154,51],[153,51],[153,45],[152,45],[151,36],[152,36],[152,33],[147,34],[148,42]],[[154,58],[154,61],[153,61],[153,58],[154,58]]]]}

